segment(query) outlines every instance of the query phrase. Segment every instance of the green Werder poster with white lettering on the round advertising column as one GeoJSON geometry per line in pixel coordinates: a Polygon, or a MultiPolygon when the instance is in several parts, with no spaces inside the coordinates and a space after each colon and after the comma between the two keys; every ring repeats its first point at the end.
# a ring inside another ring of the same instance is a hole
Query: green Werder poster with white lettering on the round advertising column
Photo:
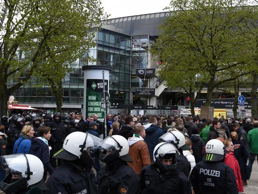
{"type": "MultiPolygon", "coordinates": [[[[105,80],[105,90],[107,90],[107,80],[105,80]]],[[[97,114],[99,119],[104,118],[104,112],[101,109],[101,92],[103,91],[102,79],[87,79],[86,91],[86,115],[94,116],[97,114]]]]}

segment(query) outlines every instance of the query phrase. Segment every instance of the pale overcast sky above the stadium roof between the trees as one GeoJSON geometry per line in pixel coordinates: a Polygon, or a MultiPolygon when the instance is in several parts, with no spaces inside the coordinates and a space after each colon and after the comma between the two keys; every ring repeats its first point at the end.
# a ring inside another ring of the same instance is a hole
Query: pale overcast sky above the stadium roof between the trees
{"type": "Polygon", "coordinates": [[[169,3],[170,0],[101,0],[104,11],[110,14],[109,19],[164,12],[169,3]]]}

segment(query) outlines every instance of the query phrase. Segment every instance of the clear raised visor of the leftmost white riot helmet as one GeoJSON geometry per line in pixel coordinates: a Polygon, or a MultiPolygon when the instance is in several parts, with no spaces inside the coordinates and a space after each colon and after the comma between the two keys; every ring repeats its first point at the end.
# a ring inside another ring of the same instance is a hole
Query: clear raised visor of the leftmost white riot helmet
{"type": "Polygon", "coordinates": [[[12,174],[22,174],[27,171],[28,162],[24,154],[12,154],[1,156],[1,166],[4,170],[10,170],[12,174]]]}

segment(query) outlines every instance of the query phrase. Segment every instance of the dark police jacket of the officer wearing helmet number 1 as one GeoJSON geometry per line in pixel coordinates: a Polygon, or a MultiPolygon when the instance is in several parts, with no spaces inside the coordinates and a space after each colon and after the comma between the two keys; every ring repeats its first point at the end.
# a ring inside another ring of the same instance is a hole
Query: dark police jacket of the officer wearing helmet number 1
{"type": "Polygon", "coordinates": [[[98,193],[93,179],[91,169],[83,169],[70,161],[65,161],[51,174],[46,185],[49,193],[53,194],[98,193]]]}

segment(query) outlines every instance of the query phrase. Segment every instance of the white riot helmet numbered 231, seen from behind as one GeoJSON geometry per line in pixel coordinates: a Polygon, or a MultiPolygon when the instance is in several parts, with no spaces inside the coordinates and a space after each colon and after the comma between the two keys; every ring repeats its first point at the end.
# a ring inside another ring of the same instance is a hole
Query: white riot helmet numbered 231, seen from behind
{"type": "Polygon", "coordinates": [[[207,162],[221,161],[225,157],[225,146],[218,139],[209,140],[206,144],[205,151],[205,161],[207,162]]]}

